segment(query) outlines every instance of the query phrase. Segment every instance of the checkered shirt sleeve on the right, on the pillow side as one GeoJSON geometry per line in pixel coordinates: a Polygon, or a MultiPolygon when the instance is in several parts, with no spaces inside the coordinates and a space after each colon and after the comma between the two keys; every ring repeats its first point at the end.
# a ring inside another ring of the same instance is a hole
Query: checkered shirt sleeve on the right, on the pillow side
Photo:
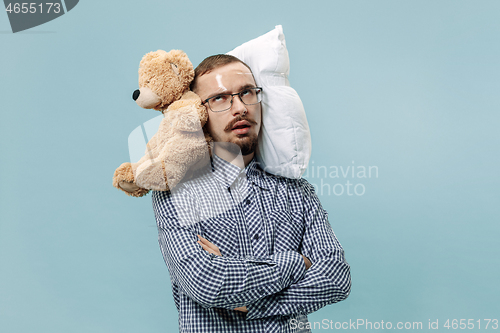
{"type": "Polygon", "coordinates": [[[246,320],[295,313],[307,315],[349,296],[350,267],[328,221],[328,213],[321,207],[314,188],[304,179],[299,184],[306,226],[300,252],[312,266],[297,283],[248,304],[246,320]]]}

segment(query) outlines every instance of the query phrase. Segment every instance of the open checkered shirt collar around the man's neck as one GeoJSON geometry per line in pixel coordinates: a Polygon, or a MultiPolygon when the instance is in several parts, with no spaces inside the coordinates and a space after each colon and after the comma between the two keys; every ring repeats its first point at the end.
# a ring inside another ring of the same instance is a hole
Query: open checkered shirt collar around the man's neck
{"type": "Polygon", "coordinates": [[[270,184],[268,183],[265,175],[267,175],[259,166],[259,163],[252,158],[250,163],[244,168],[240,169],[234,164],[220,158],[216,154],[212,154],[212,174],[221,182],[226,188],[231,187],[236,178],[246,175],[255,185],[269,190],[270,184]]]}

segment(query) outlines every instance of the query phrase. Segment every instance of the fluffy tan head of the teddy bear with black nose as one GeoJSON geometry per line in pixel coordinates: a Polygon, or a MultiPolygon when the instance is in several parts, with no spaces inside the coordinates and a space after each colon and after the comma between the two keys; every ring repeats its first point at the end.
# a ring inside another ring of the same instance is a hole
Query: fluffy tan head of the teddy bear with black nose
{"type": "Polygon", "coordinates": [[[133,98],[144,109],[165,110],[189,90],[193,64],[180,50],[146,54],[139,65],[139,89],[133,98]]]}

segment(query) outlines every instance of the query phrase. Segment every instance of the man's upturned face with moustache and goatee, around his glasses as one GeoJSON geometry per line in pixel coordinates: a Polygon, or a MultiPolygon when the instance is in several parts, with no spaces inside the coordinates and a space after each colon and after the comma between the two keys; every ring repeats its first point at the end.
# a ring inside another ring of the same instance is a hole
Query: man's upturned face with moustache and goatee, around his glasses
{"type": "MultiPolygon", "coordinates": [[[[240,62],[233,62],[198,77],[195,93],[204,101],[219,94],[235,94],[255,86],[250,70],[240,62]]],[[[255,151],[262,119],[260,103],[245,105],[238,96],[233,96],[233,105],[229,110],[213,112],[208,103],[205,106],[208,110],[206,126],[215,142],[232,142],[240,147],[243,155],[255,151]]]]}

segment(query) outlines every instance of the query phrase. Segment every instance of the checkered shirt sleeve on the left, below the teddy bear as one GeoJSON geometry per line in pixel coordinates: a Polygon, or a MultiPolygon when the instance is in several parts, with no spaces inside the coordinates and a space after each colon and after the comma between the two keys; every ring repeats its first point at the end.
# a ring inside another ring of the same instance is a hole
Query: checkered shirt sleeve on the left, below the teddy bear
{"type": "Polygon", "coordinates": [[[268,257],[221,257],[197,243],[196,202],[187,193],[153,192],[158,241],[171,279],[205,308],[234,309],[296,283],[305,275],[295,251],[268,257]],[[180,198],[180,199],[179,199],[180,198]]]}

